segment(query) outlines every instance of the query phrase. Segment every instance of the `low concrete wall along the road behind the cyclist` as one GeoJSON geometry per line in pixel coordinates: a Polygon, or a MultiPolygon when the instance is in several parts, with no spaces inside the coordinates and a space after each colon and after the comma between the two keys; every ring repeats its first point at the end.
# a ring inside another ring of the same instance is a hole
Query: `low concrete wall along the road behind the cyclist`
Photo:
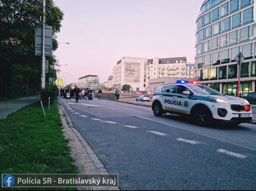
{"type": "MultiPolygon", "coordinates": [[[[129,94],[129,93],[120,93],[119,100],[120,101],[136,101],[136,97],[142,94],[129,94]]],[[[95,93],[94,98],[98,98],[99,94],[95,93]]],[[[152,101],[153,95],[148,95],[150,97],[150,101],[152,101]]],[[[109,99],[109,100],[116,100],[116,95],[114,92],[106,92],[101,94],[102,98],[109,99]]]]}

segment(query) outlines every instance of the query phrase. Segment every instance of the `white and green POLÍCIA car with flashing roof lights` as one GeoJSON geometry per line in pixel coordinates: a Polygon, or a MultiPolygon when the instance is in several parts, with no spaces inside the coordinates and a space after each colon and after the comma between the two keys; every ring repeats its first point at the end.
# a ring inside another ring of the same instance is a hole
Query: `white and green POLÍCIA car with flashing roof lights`
{"type": "Polygon", "coordinates": [[[189,115],[193,123],[200,126],[214,120],[235,125],[252,121],[247,100],[183,80],[158,87],[153,95],[152,110],[155,116],[189,115]]]}

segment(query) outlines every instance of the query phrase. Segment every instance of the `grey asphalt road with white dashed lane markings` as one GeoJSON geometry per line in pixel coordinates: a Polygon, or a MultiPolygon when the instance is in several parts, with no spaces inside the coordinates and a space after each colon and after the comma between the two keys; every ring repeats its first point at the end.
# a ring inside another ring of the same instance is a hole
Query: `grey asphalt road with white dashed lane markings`
{"type": "Polygon", "coordinates": [[[74,127],[121,190],[256,189],[256,125],[199,127],[110,100],[61,99],[74,127]]]}

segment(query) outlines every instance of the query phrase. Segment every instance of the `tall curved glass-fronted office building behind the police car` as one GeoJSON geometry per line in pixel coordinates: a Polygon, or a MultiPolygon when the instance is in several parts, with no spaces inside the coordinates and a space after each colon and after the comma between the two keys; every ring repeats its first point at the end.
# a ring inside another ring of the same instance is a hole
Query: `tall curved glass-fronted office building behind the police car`
{"type": "Polygon", "coordinates": [[[241,65],[240,94],[254,92],[256,23],[253,0],[205,0],[196,21],[195,48],[198,83],[222,94],[237,96],[235,56],[241,52],[245,60],[241,65]]]}

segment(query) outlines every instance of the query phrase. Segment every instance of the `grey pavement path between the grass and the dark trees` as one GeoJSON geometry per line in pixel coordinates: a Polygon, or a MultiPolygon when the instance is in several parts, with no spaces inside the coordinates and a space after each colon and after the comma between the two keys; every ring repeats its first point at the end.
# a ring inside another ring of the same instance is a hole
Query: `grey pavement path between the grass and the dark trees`
{"type": "Polygon", "coordinates": [[[0,119],[4,119],[7,117],[7,115],[13,112],[16,112],[21,107],[24,107],[31,103],[35,103],[39,100],[40,100],[40,95],[1,101],[0,102],[0,119]]]}

